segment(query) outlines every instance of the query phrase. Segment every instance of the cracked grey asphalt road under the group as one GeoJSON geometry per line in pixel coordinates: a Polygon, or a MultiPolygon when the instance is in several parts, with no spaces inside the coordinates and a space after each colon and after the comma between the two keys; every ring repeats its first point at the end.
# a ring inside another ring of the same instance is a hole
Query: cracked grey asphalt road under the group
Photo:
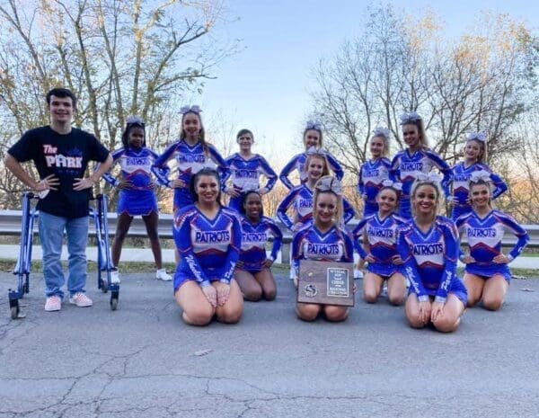
{"type": "Polygon", "coordinates": [[[384,299],[357,298],[342,324],[301,322],[283,276],[240,324],[196,328],[170,283],[124,274],[112,312],[91,277],[93,307],[46,313],[33,274],[27,317],[11,320],[15,277],[0,273],[0,418],[539,415],[539,280],[514,280],[500,312],[468,309],[438,334],[384,299]]]}

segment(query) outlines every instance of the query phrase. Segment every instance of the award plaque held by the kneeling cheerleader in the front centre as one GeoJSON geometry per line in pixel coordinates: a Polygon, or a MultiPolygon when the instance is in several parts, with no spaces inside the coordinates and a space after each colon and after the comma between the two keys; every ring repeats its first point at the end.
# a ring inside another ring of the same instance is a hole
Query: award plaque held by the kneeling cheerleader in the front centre
{"type": "Polygon", "coordinates": [[[354,264],[302,260],[299,263],[297,301],[353,307],[354,264]]]}

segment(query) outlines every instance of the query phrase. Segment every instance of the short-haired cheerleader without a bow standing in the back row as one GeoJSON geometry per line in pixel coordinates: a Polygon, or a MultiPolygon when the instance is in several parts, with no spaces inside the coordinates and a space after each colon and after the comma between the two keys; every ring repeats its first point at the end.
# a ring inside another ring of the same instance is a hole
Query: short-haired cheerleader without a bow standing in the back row
{"type": "Polygon", "coordinates": [[[226,188],[225,191],[231,197],[228,207],[240,211],[242,209],[242,191],[256,190],[261,195],[266,194],[273,189],[275,182],[277,182],[277,174],[263,156],[252,154],[251,148],[254,138],[251,130],[240,130],[236,141],[240,146],[240,152],[225,160],[232,174],[232,187],[226,188]],[[264,187],[260,186],[261,174],[268,179],[264,187]]]}

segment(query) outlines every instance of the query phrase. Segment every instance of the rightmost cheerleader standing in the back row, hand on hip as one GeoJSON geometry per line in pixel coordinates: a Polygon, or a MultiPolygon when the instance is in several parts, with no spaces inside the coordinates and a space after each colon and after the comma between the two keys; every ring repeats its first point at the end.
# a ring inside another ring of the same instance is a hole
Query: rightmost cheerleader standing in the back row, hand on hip
{"type": "Polygon", "coordinates": [[[490,180],[494,185],[492,199],[497,199],[500,194],[508,190],[507,184],[501,178],[492,173],[490,167],[483,163],[486,154],[487,136],[483,132],[474,132],[468,135],[464,147],[464,161],[451,168],[453,172],[452,189],[446,190],[446,195],[451,196],[449,201],[453,207],[453,220],[467,215],[472,211],[470,205],[469,181],[473,173],[482,171],[490,174],[490,180]]]}

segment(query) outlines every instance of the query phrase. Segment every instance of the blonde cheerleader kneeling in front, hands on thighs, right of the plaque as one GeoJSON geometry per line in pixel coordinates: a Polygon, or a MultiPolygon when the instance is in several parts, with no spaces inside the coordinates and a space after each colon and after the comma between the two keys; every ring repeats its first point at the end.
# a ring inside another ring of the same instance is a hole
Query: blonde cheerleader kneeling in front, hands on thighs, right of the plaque
{"type": "Polygon", "coordinates": [[[432,323],[451,333],[460,324],[467,296],[456,275],[459,253],[455,223],[437,216],[441,204],[438,180],[422,174],[411,188],[413,218],[397,228],[397,248],[411,286],[406,318],[413,328],[432,323]]]}

